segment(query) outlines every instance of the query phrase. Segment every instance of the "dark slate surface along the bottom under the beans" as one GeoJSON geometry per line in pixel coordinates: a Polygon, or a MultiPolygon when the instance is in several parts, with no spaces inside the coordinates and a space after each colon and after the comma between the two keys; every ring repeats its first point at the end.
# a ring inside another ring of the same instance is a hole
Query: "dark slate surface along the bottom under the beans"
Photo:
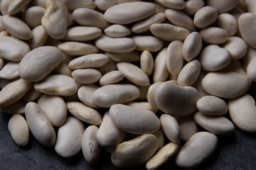
{"type": "MultiPolygon", "coordinates": [[[[248,92],[256,98],[256,84],[248,92]]],[[[226,114],[228,116],[228,114],[226,114]]],[[[7,123],[11,115],[0,113],[0,169],[83,169],[83,170],[115,170],[110,154],[103,152],[102,159],[96,166],[89,166],[82,152],[72,159],[64,159],[55,153],[53,147],[40,145],[33,136],[26,147],[18,147],[11,139],[7,123]]],[[[237,127],[234,135],[218,137],[218,150],[214,157],[202,169],[256,169],[256,135],[242,132],[237,127]]],[[[144,165],[136,168],[146,169],[144,165]]],[[[174,162],[161,169],[179,169],[174,162]]]]}

